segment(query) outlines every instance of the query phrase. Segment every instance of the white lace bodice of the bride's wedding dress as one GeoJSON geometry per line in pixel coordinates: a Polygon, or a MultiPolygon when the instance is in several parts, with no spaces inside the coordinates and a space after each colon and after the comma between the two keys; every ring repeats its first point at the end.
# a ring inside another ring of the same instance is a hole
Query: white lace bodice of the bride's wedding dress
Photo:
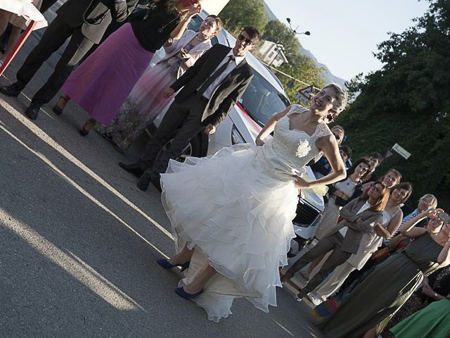
{"type": "Polygon", "coordinates": [[[259,149],[256,161],[271,177],[292,180],[293,175],[302,175],[312,158],[319,154],[316,140],[331,134],[325,123],[317,125],[313,134],[303,130],[290,129],[289,115],[305,113],[307,108],[293,104],[290,111],[275,125],[274,137],[259,149]]]}

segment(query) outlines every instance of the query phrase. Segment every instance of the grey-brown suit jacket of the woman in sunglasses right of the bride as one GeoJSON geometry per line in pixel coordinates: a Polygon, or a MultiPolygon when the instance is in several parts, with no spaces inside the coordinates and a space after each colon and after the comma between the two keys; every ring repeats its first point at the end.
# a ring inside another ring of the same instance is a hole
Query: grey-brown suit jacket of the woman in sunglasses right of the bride
{"type": "Polygon", "coordinates": [[[340,210],[340,215],[344,218],[341,224],[348,227],[342,242],[342,251],[349,253],[358,252],[359,243],[361,242],[364,233],[374,231],[373,227],[375,227],[377,223],[383,225],[383,211],[366,209],[362,213],[356,215],[365,203],[366,201],[364,200],[354,199],[340,210]],[[363,220],[361,224],[356,222],[359,218],[363,220]]]}

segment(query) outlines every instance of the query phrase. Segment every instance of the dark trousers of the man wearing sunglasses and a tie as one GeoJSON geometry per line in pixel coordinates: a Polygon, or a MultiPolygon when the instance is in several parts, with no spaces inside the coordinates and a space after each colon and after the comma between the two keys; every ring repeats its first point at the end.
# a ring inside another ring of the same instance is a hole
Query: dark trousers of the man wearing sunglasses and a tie
{"type": "Polygon", "coordinates": [[[191,95],[183,101],[174,101],[169,107],[162,118],[160,127],[139,158],[141,169],[146,170],[152,180],[157,180],[161,173],[165,173],[169,160],[179,158],[191,139],[205,129],[201,119],[206,104],[205,99],[191,95]],[[162,150],[162,147],[172,138],[172,143],[162,150]],[[158,153],[160,156],[156,160],[158,153]]]}

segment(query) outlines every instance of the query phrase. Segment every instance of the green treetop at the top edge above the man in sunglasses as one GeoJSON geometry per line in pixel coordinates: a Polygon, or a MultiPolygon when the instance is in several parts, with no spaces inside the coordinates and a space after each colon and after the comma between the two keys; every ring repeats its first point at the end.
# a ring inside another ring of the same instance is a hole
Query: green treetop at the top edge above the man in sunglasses
{"type": "Polygon", "coordinates": [[[262,35],[267,23],[263,0],[230,0],[219,13],[219,17],[224,22],[226,30],[234,36],[245,26],[256,27],[262,35]]]}

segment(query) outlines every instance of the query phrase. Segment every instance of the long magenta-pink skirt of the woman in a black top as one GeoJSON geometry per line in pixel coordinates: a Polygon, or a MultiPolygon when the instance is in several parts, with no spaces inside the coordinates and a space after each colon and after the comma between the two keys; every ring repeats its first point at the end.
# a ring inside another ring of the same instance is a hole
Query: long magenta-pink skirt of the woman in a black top
{"type": "Polygon", "coordinates": [[[61,90],[91,118],[108,125],[152,58],[127,23],[72,72],[61,90]]]}

